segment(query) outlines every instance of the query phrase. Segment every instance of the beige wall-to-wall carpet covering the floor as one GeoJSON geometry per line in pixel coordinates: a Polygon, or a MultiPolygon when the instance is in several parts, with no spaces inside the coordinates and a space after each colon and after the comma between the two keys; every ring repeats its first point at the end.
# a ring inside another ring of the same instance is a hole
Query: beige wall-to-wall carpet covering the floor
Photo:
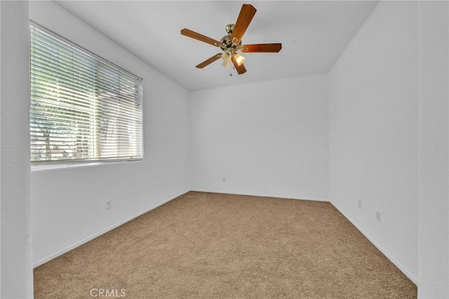
{"type": "Polygon", "coordinates": [[[201,192],[37,267],[34,288],[37,299],[417,297],[329,203],[201,192]]]}

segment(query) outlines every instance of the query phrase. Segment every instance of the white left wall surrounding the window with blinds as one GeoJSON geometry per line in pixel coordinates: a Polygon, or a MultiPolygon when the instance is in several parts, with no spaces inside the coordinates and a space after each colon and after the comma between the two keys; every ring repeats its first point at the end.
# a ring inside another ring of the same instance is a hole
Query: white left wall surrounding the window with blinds
{"type": "Polygon", "coordinates": [[[189,190],[188,92],[51,1],[30,1],[29,18],[142,77],[144,90],[144,161],[32,171],[39,265],[189,190]]]}

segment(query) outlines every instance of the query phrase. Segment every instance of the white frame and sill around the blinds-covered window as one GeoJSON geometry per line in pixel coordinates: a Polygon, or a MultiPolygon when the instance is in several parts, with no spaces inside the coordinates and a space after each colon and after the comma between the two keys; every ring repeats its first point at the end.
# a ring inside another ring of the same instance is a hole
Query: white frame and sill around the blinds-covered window
{"type": "MultiPolygon", "coordinates": [[[[30,142],[29,142],[29,148],[30,148],[30,155],[29,155],[29,159],[31,162],[31,166],[32,166],[32,170],[48,170],[48,169],[53,169],[53,168],[66,168],[66,167],[73,167],[73,166],[95,166],[95,165],[102,165],[102,164],[112,164],[112,163],[122,163],[122,162],[138,162],[138,161],[143,161],[144,159],[144,154],[145,154],[145,150],[144,150],[144,146],[145,146],[145,140],[144,140],[144,100],[143,100],[143,79],[141,77],[138,77],[137,75],[133,74],[133,72],[128,71],[127,69],[124,69],[123,67],[119,67],[118,65],[114,64],[113,62],[100,57],[99,55],[89,51],[86,48],[83,48],[82,46],[79,46],[78,44],[69,41],[68,39],[66,39],[63,36],[60,36],[60,34],[57,34],[53,31],[51,31],[50,29],[47,29],[46,27],[43,27],[41,25],[39,25],[38,23],[29,20],[29,85],[32,86],[32,80],[31,80],[31,76],[32,76],[32,53],[31,53],[31,46],[32,46],[32,36],[31,36],[31,30],[34,27],[35,29],[38,29],[39,31],[43,32],[44,34],[48,34],[48,36],[51,36],[53,39],[56,39],[57,41],[63,43],[63,44],[67,44],[70,47],[75,48],[77,51],[80,51],[81,53],[83,53],[83,55],[88,55],[91,56],[91,58],[94,58],[95,60],[98,60],[99,62],[105,63],[106,65],[108,65],[109,67],[112,67],[114,69],[116,69],[118,72],[125,72],[126,74],[129,74],[132,77],[135,77],[135,79],[137,79],[139,81],[139,88],[140,88],[140,115],[141,115],[141,119],[140,119],[140,157],[137,158],[133,158],[133,159],[101,159],[98,157],[95,157],[93,159],[56,159],[56,160],[45,160],[45,161],[32,161],[32,155],[31,155],[31,147],[32,147],[32,143],[31,143],[31,124],[29,126],[29,136],[30,136],[30,142]]],[[[32,99],[31,94],[30,94],[30,100],[32,99]]],[[[31,120],[31,107],[30,107],[30,120],[31,120]]],[[[30,121],[31,123],[31,121],[30,121]]]]}

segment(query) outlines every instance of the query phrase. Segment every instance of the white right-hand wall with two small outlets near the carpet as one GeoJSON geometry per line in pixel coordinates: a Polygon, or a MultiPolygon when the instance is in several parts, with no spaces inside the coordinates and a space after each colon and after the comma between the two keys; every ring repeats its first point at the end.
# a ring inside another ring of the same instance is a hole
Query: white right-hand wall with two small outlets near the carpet
{"type": "Polygon", "coordinates": [[[329,73],[330,201],[415,283],[417,5],[381,1],[329,73]]]}

